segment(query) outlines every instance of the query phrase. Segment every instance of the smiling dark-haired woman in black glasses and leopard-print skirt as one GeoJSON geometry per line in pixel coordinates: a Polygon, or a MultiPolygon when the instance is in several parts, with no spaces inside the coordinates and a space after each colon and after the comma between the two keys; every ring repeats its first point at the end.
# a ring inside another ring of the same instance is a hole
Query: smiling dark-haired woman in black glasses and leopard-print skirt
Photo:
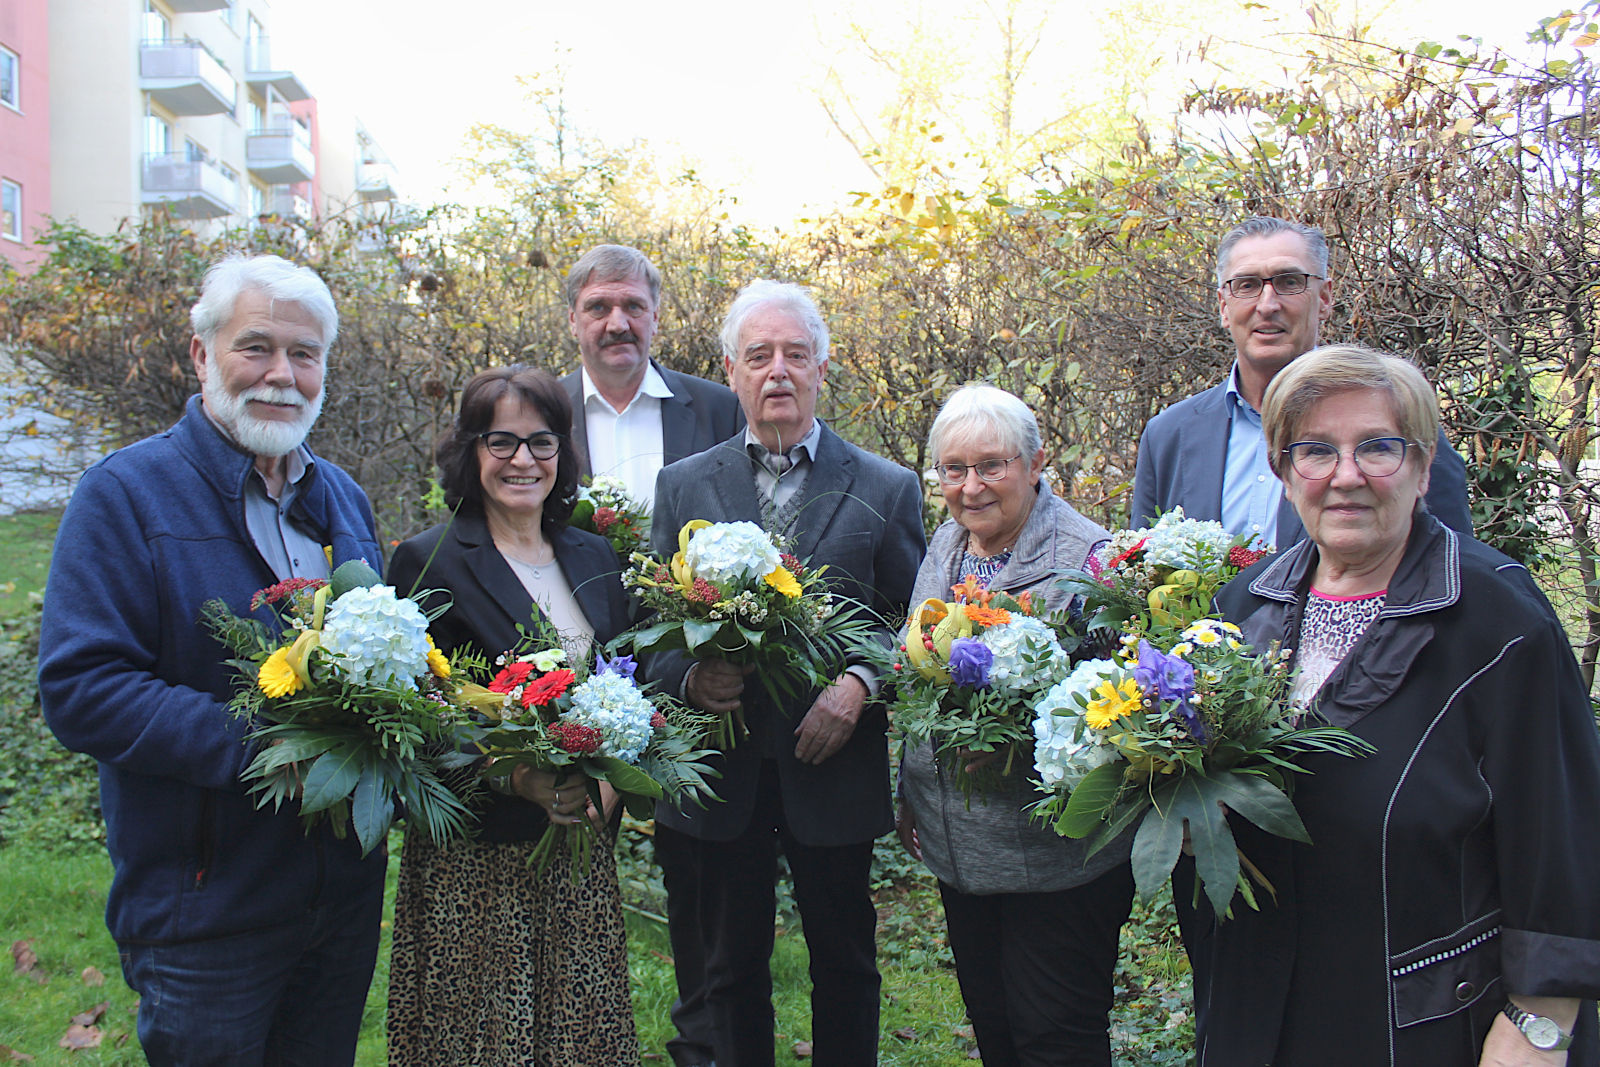
{"type": "MultiPolygon", "coordinates": [[[[446,654],[488,659],[549,621],[568,656],[627,629],[616,552],[571,530],[578,493],[571,403],[541,370],[482,371],[438,442],[454,518],[395,549],[389,582],[450,600],[434,621],[446,654]]],[[[498,781],[498,779],[496,779],[498,781]]],[[[544,873],[528,853],[550,822],[589,817],[587,781],[518,766],[491,793],[475,840],[438,848],[406,835],[389,969],[389,1062],[395,1067],[638,1064],[616,865],[594,849],[573,883],[565,853],[544,873]]],[[[614,808],[602,785],[606,808],[614,808]]]]}

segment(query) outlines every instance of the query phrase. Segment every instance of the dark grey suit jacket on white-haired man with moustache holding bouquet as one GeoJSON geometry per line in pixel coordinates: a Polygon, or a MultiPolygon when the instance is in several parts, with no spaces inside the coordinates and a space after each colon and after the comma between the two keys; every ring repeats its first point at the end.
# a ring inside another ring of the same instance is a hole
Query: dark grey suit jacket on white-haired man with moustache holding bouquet
{"type": "MultiPolygon", "coordinates": [[[[816,462],[800,490],[794,552],[811,566],[829,568],[835,593],[867,605],[893,640],[906,619],[906,603],[922,565],[922,483],[915,474],[866,453],[822,427],[816,462]]],[[[677,552],[678,530],[691,518],[760,522],[755,477],[744,434],[717,448],[672,464],[656,478],[651,525],[658,552],[677,552]]],[[[656,656],[651,677],[667,693],[682,691],[688,656],[656,656]]],[[[870,841],[894,825],[890,806],[888,726],[882,704],[869,704],[856,733],[819,766],[795,758],[794,729],[816,693],[778,705],[755,675],[744,689],[750,736],[712,758],[723,777],[722,803],[677,809],[658,805],[656,819],[691,837],[730,841],[744,832],[755,805],[762,753],[776,749],[784,817],[802,845],[834,846],[870,841]]]]}

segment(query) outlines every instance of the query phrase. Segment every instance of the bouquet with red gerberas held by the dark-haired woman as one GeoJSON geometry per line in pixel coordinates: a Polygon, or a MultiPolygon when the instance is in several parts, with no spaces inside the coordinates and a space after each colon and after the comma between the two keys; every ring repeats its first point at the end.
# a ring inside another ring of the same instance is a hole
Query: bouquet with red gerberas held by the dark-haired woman
{"type": "MultiPolygon", "coordinates": [[[[510,776],[528,765],[554,771],[560,784],[568,769],[581,771],[592,779],[597,811],[605,809],[598,792],[605,781],[635,819],[650,819],[661,797],[717,798],[706,782],[717,771],[702,763],[710,750],[701,747],[710,717],[640,689],[630,656],[608,661],[597,654],[594,669],[576,664],[574,670],[565,665],[554,632],[546,632],[530,635],[496,664],[501,670],[488,688],[466,696],[480,718],[477,749],[491,757],[486,776],[510,776]]],[[[565,845],[576,881],[589,872],[594,835],[587,819],[552,824],[530,862],[542,870],[565,845]]]]}

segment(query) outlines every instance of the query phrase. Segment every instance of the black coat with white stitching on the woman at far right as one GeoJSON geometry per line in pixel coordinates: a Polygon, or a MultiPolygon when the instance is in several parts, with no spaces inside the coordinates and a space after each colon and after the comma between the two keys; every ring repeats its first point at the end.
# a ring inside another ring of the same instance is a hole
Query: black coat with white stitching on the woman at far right
{"type": "MultiPolygon", "coordinates": [[[[1218,609],[1294,645],[1315,565],[1310,542],[1262,560],[1218,609]]],[[[1298,760],[1314,845],[1229,817],[1277,899],[1202,904],[1198,1062],[1470,1067],[1507,993],[1589,1000],[1568,1064],[1600,1062],[1600,739],[1528,571],[1418,517],[1318,697],[1374,752],[1298,760]]]]}

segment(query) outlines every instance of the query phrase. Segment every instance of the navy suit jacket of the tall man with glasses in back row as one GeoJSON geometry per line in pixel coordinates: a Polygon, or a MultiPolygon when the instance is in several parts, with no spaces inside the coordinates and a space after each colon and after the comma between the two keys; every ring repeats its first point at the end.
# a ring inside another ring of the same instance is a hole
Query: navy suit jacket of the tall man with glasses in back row
{"type": "MultiPolygon", "coordinates": [[[[1234,432],[1232,413],[1227,382],[1222,382],[1150,419],[1139,438],[1130,526],[1155,522],[1157,515],[1179,504],[1187,518],[1222,520],[1222,475],[1227,470],[1227,438],[1234,432]]],[[[1450,446],[1443,430],[1438,432],[1438,451],[1429,472],[1427,510],[1456,533],[1472,536],[1467,464],[1450,446]]],[[[1306,526],[1285,496],[1278,502],[1278,550],[1304,536],[1306,526]]]]}

